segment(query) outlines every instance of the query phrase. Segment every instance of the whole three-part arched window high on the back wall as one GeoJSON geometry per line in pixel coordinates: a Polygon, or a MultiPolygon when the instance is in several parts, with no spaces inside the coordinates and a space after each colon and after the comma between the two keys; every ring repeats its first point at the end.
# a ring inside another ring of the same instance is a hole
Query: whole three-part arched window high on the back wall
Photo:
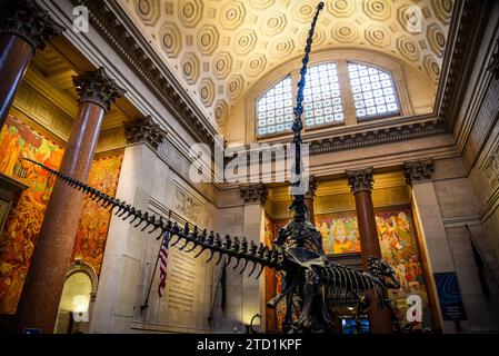
{"type": "MultiPolygon", "coordinates": [[[[257,137],[289,134],[295,119],[299,69],[257,100],[257,137]]],[[[338,59],[309,67],[303,89],[305,130],[357,120],[399,116],[401,105],[391,72],[338,59]]]]}

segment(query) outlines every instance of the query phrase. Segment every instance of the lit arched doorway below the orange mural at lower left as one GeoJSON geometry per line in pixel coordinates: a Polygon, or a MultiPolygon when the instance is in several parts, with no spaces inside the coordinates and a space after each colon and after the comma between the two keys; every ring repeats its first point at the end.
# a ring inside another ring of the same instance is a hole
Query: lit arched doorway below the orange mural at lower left
{"type": "Polygon", "coordinates": [[[56,334],[87,332],[96,291],[97,274],[93,268],[86,264],[72,265],[68,270],[62,289],[56,334]]]}

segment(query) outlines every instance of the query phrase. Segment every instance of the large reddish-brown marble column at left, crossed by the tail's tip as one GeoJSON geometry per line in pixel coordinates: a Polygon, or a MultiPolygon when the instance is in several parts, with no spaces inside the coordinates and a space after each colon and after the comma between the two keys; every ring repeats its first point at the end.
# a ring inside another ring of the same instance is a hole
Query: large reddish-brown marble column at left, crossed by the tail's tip
{"type": "MultiPolygon", "coordinates": [[[[73,83],[79,95],[79,110],[59,170],[86,181],[102,118],[124,90],[102,68],[73,77],[73,83]]],[[[81,192],[56,182],[18,306],[18,332],[24,328],[53,332],[81,204],[81,192]]]]}

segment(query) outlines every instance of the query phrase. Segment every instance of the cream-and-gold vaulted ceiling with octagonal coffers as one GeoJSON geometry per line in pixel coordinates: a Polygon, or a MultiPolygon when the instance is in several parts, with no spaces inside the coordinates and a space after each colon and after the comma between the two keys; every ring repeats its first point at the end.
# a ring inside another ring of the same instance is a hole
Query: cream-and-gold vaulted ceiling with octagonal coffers
{"type": "MultiPolygon", "coordinates": [[[[301,57],[318,0],[118,0],[199,108],[223,123],[251,86],[301,57]]],[[[325,1],[313,50],[390,55],[436,85],[452,0],[325,1]],[[410,7],[420,9],[408,30],[410,7]]]]}

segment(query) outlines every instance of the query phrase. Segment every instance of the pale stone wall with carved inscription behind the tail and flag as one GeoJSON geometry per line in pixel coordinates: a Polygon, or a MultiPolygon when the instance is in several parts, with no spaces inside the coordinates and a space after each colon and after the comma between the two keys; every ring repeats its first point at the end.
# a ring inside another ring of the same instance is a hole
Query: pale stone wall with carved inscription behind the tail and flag
{"type": "MultiPolygon", "coordinates": [[[[213,228],[214,206],[179,176],[148,145],[128,146],[117,197],[142,211],[168,217],[173,209],[183,219],[213,228]]],[[[101,278],[91,317],[92,333],[209,332],[213,296],[213,264],[170,247],[167,288],[158,295],[156,270],[148,308],[141,312],[160,248],[156,236],[113,216],[101,278]]]]}

